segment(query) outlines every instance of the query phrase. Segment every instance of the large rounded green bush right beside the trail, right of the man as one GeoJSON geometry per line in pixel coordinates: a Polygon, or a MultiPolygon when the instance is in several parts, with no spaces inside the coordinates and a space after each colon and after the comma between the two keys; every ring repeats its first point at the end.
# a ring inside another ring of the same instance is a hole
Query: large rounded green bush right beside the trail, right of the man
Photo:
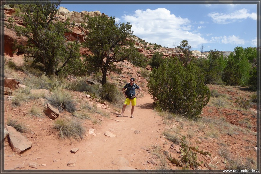
{"type": "Polygon", "coordinates": [[[199,115],[211,96],[199,68],[192,63],[184,67],[177,58],[152,70],[148,88],[163,110],[188,118],[199,115]]]}

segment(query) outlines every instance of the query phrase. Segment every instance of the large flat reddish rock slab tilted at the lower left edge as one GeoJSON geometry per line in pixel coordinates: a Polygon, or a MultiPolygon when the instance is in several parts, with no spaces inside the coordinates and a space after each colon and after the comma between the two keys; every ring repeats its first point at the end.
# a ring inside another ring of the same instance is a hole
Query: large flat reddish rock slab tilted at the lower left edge
{"type": "Polygon", "coordinates": [[[6,125],[5,128],[9,133],[10,146],[12,148],[12,151],[16,152],[17,154],[20,154],[32,146],[32,142],[30,142],[20,132],[15,130],[14,127],[6,125]]]}

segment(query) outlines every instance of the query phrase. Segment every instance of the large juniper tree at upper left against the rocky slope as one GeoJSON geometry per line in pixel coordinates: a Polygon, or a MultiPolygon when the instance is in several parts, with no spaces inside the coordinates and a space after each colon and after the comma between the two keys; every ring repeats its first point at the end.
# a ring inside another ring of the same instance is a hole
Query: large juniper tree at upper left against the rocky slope
{"type": "MultiPolygon", "coordinates": [[[[25,61],[32,59],[44,66],[47,74],[57,73],[70,61],[79,59],[77,42],[66,42],[65,32],[70,32],[70,23],[57,17],[60,2],[41,1],[37,4],[19,6],[23,26],[11,25],[18,36],[27,38],[27,45],[15,45],[24,53],[25,61]],[[61,67],[58,64],[61,63],[61,67]],[[59,68],[59,69],[58,69],[59,68]]],[[[10,20],[13,21],[13,20],[10,20]]]]}

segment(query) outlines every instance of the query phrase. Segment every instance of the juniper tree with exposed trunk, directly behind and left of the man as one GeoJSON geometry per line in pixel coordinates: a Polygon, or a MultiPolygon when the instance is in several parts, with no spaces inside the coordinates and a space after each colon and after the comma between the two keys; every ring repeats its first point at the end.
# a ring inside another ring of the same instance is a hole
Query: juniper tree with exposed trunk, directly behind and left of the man
{"type": "Polygon", "coordinates": [[[137,61],[141,54],[127,37],[133,34],[130,22],[116,23],[115,17],[105,15],[88,17],[89,30],[84,44],[92,54],[85,55],[88,68],[102,71],[102,84],[106,84],[106,73],[115,70],[114,62],[137,61]]]}

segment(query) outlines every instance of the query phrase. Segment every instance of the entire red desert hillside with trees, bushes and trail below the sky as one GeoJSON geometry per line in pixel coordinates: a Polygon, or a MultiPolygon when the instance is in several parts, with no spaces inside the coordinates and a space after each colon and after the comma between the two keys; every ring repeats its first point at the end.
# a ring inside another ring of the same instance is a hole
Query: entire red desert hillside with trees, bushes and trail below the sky
{"type": "Polygon", "coordinates": [[[257,168],[257,48],[166,48],[58,9],[5,5],[5,170],[257,168]],[[131,77],[135,118],[119,118],[131,77]]]}

